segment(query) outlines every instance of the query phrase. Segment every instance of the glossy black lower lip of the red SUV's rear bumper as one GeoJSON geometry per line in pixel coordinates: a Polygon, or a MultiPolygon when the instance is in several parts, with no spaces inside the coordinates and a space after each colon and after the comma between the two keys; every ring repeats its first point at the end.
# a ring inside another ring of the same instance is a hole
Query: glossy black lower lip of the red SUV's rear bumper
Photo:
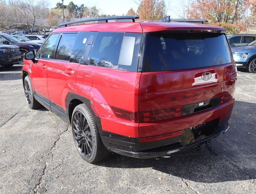
{"type": "MultiPolygon", "coordinates": [[[[228,128],[229,128],[229,122],[227,122],[222,127],[218,128],[218,130],[216,130],[216,132],[214,134],[212,134],[210,136],[207,136],[206,138],[203,138],[203,139],[198,140],[196,142],[186,144],[186,145],[182,145],[182,144],[180,144],[180,139],[179,139],[180,137],[177,136],[176,138],[168,139],[169,143],[172,142],[168,146],[162,146],[160,148],[144,150],[144,151],[141,151],[141,152],[133,152],[133,151],[128,151],[128,150],[122,150],[120,148],[114,148],[112,146],[106,146],[106,144],[105,144],[105,146],[108,148],[108,150],[110,150],[112,152],[115,152],[115,153],[118,153],[118,154],[121,154],[121,155],[124,155],[124,156],[130,156],[130,157],[133,157],[133,158],[140,158],[140,159],[158,158],[158,157],[170,155],[174,152],[179,152],[179,151],[182,151],[182,150],[188,150],[188,149],[194,148],[198,145],[204,144],[208,140],[210,140],[212,138],[215,138],[216,136],[226,132],[228,130],[228,128]]],[[[107,145],[110,145],[110,144],[107,144],[107,145]]]]}

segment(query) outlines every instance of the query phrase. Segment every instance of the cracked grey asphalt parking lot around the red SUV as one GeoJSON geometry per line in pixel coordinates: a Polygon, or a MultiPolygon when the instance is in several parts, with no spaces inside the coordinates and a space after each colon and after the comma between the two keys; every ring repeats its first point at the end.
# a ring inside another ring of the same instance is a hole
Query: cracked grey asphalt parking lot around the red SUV
{"type": "Polygon", "coordinates": [[[71,126],[26,105],[21,65],[0,68],[0,193],[256,193],[256,74],[238,71],[230,130],[200,151],[80,158],[71,126]]]}

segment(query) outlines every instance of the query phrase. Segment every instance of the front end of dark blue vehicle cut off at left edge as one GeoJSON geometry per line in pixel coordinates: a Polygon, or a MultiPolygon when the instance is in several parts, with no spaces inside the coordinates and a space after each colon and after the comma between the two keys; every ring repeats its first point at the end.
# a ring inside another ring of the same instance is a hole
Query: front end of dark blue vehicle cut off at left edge
{"type": "Polygon", "coordinates": [[[21,54],[18,46],[0,45],[0,66],[11,67],[21,62],[21,54]]]}

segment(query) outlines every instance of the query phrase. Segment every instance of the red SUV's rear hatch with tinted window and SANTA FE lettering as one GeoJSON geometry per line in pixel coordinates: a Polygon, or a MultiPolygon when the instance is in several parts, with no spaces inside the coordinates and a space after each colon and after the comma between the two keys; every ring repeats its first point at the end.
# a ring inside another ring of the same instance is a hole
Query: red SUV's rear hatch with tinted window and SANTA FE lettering
{"type": "MultiPolygon", "coordinates": [[[[226,35],[162,31],[146,34],[139,90],[140,125],[168,122],[232,99],[236,68],[226,35]],[[143,124],[142,124],[143,123],[143,124]]],[[[140,137],[173,132],[170,126],[140,137]]]]}

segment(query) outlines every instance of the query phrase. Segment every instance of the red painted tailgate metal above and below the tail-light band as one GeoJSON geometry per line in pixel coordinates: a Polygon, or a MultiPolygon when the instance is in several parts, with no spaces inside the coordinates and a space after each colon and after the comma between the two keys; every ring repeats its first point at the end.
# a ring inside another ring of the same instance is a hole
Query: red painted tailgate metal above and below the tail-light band
{"type": "MultiPolygon", "coordinates": [[[[235,82],[236,70],[234,64],[168,72],[144,72],[140,79],[139,110],[160,110],[195,102],[199,103],[224,94],[233,96],[235,82]],[[212,83],[193,86],[193,80],[198,77],[198,74],[201,75],[202,72],[212,70],[217,74],[217,83],[213,80],[212,83]]],[[[188,126],[196,126],[227,114],[232,111],[232,108],[233,104],[225,108],[218,106],[203,111],[204,114],[194,113],[156,123],[140,123],[139,136],[156,136],[182,130],[188,128],[188,126]]]]}

